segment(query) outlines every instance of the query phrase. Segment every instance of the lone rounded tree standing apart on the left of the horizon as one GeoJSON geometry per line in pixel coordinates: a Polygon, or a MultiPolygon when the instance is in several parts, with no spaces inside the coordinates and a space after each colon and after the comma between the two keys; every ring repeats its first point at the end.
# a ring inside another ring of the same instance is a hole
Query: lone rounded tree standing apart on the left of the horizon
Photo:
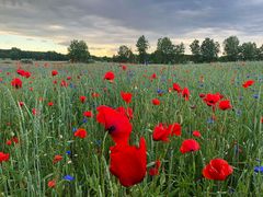
{"type": "Polygon", "coordinates": [[[71,40],[68,47],[68,56],[72,62],[87,62],[90,58],[88,46],[83,40],[71,40]]]}

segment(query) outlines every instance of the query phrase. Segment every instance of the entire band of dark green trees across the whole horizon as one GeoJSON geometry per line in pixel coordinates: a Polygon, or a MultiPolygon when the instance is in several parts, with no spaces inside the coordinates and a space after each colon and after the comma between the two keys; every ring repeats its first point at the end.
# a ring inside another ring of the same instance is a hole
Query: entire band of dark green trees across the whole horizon
{"type": "Polygon", "coordinates": [[[19,48],[0,49],[0,58],[11,58],[12,60],[33,59],[47,61],[92,62],[92,61],[114,61],[134,63],[185,63],[185,62],[213,62],[213,61],[237,61],[237,60],[263,60],[263,45],[258,48],[255,43],[248,42],[240,44],[237,36],[230,36],[222,43],[222,56],[220,44],[211,38],[204,40],[195,39],[191,43],[192,55],[185,54],[185,45],[173,44],[169,37],[159,38],[153,53],[148,53],[149,42],[142,35],[136,42],[137,54],[126,45],[118,47],[118,51],[113,57],[96,57],[89,53],[84,40],[71,40],[68,54],[56,51],[24,51],[19,48]]]}

